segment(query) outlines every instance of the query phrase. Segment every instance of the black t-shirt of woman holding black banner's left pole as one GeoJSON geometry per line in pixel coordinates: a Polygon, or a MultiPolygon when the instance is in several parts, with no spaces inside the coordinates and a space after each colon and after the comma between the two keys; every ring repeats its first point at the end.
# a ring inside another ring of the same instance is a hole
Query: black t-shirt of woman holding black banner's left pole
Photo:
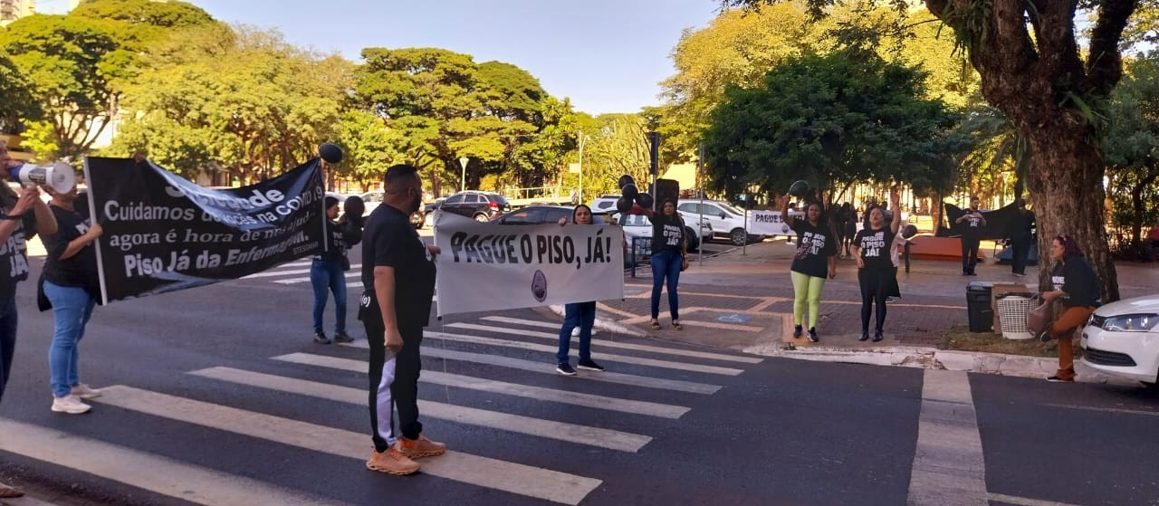
{"type": "Polygon", "coordinates": [[[68,243],[85,235],[92,222],[74,211],[54,205],[49,206],[57,219],[57,233],[41,237],[48,257],[44,261],[44,279],[58,286],[75,286],[93,291],[97,286],[96,249],[89,243],[76,255],[61,259],[68,243]]]}

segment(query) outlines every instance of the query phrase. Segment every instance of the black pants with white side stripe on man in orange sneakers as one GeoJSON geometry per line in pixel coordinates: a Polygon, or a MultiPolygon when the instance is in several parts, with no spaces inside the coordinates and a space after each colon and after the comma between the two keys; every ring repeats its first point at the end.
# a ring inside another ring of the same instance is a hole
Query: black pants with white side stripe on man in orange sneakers
{"type": "Polygon", "coordinates": [[[418,347],[423,342],[423,325],[407,324],[403,315],[399,316],[402,350],[388,357],[378,299],[374,291],[363,294],[358,320],[366,329],[370,344],[370,425],[376,452],[386,452],[398,439],[399,428],[407,439],[418,439],[423,432],[423,424],[418,423],[418,374],[422,371],[418,347]],[[398,428],[393,411],[399,412],[398,428]]]}

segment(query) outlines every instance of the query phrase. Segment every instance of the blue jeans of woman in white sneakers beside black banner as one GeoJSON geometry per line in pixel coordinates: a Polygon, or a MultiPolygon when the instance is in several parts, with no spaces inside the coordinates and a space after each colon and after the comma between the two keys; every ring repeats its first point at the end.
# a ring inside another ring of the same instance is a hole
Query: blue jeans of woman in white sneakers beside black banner
{"type": "Polygon", "coordinates": [[[73,386],[80,384],[80,375],[76,373],[80,339],[85,337],[85,325],[93,316],[96,298],[85,288],[53,285],[51,281],[44,281],[44,295],[52,302],[52,317],[56,321],[52,344],[49,345],[52,395],[64,397],[73,386]]]}

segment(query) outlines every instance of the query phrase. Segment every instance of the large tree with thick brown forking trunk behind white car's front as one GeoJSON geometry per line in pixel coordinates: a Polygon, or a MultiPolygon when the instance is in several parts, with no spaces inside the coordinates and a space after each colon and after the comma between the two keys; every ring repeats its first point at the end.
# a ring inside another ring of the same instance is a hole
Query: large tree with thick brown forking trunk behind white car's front
{"type": "MultiPolygon", "coordinates": [[[[757,7],[777,1],[723,3],[757,7]]],[[[808,0],[817,17],[836,1],[808,0]]],[[[1102,206],[1106,166],[1099,107],[1122,76],[1120,43],[1137,0],[925,3],[954,31],[958,49],[982,76],[983,96],[1009,118],[1034,153],[1028,188],[1042,230],[1040,250],[1045,251],[1056,234],[1074,236],[1099,273],[1102,300],[1117,300],[1102,206]],[[1074,30],[1080,9],[1094,19],[1081,50],[1074,30]]],[[[889,5],[899,10],[907,7],[897,1],[889,5]]],[[[905,32],[902,23],[888,30],[905,32]]],[[[1050,266],[1041,265],[1040,283],[1047,286],[1050,266]]]]}

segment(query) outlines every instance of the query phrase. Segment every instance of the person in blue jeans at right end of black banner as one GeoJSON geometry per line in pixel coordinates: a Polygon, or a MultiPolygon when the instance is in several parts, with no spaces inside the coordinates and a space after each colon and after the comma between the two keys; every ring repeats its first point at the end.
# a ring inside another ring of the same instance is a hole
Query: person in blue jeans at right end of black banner
{"type": "Polygon", "coordinates": [[[350,261],[347,248],[362,241],[362,228],[357,220],[348,217],[338,218],[338,199],[326,197],[326,220],[329,244],[326,251],[314,255],[309,265],[309,284],[314,287],[314,342],[330,344],[330,338],[322,331],[322,315],[326,313],[326,301],[334,293],[334,343],[351,343],[355,339],[347,335],[347,276],[350,261]]]}

